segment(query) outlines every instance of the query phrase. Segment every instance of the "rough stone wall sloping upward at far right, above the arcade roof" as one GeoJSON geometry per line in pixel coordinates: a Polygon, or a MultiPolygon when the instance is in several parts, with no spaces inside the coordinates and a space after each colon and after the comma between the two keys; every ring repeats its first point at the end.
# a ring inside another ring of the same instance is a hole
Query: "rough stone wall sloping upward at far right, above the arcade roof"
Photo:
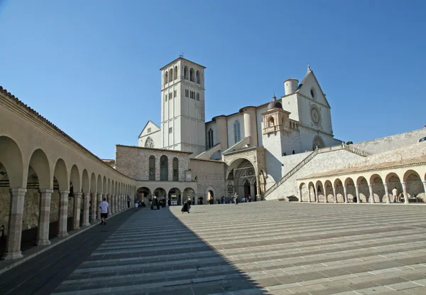
{"type": "Polygon", "coordinates": [[[353,144],[354,148],[368,151],[371,154],[378,154],[383,151],[391,151],[399,149],[403,146],[409,146],[417,143],[419,139],[426,136],[426,128],[413,130],[401,134],[382,137],[371,141],[364,141],[358,144],[353,144]]]}

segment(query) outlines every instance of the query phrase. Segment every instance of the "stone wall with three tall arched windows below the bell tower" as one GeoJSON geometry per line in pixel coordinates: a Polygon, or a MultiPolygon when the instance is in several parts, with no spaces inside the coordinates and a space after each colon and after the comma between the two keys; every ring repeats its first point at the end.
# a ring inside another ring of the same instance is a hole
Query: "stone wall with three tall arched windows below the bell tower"
{"type": "Polygon", "coordinates": [[[168,157],[168,181],[173,181],[173,158],[179,160],[179,181],[185,181],[190,154],[167,149],[147,149],[138,146],[116,145],[116,169],[138,181],[149,180],[149,157],[155,156],[155,181],[160,181],[160,157],[168,157]]]}

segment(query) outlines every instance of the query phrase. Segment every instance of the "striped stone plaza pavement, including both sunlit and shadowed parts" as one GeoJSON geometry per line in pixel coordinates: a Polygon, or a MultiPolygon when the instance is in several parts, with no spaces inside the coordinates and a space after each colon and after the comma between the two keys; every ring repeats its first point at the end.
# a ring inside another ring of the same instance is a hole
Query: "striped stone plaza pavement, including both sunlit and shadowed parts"
{"type": "Polygon", "coordinates": [[[426,294],[425,210],[283,201],[193,205],[190,214],[143,208],[54,294],[426,294]]]}

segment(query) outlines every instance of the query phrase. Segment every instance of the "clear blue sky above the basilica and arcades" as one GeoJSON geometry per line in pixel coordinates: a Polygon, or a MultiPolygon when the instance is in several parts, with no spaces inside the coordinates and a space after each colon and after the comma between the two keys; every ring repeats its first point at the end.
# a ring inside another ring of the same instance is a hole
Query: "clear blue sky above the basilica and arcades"
{"type": "Polygon", "coordinates": [[[334,135],[426,124],[426,1],[0,0],[0,85],[101,158],[160,122],[159,69],[207,67],[206,119],[284,94],[310,63],[334,135]]]}

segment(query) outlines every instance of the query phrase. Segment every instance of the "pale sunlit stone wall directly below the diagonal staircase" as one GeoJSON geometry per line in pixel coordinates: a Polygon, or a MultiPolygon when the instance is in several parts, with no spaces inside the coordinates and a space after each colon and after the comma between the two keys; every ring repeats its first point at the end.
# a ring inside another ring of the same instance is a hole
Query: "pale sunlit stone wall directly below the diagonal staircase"
{"type": "Polygon", "coordinates": [[[361,156],[358,154],[351,153],[344,149],[337,151],[329,151],[325,153],[317,154],[311,161],[309,161],[305,166],[300,168],[293,176],[288,178],[285,183],[275,189],[268,195],[268,200],[277,199],[280,196],[296,195],[297,191],[297,179],[304,176],[308,176],[313,173],[318,173],[320,171],[329,170],[332,168],[342,168],[346,163],[351,161],[356,161],[361,156]]]}

